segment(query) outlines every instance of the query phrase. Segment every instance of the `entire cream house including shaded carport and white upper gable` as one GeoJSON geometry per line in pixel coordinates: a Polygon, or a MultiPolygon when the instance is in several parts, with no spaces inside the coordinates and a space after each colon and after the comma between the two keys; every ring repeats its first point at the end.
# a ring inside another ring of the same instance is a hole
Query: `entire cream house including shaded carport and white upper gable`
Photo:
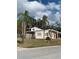
{"type": "Polygon", "coordinates": [[[26,38],[28,39],[46,39],[47,37],[51,39],[60,39],[61,33],[53,29],[43,30],[37,27],[33,27],[31,31],[26,32],[26,38]]]}

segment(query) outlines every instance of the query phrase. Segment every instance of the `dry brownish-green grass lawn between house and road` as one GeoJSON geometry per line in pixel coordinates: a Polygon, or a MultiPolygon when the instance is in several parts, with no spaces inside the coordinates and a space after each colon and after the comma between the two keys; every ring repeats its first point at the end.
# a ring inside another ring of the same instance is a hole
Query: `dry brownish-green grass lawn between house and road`
{"type": "MultiPolygon", "coordinates": [[[[18,38],[19,39],[19,38],[18,38]]],[[[17,42],[18,47],[24,48],[34,48],[34,47],[43,47],[43,46],[56,46],[61,45],[61,40],[43,40],[43,39],[25,39],[24,43],[17,42]]]]}

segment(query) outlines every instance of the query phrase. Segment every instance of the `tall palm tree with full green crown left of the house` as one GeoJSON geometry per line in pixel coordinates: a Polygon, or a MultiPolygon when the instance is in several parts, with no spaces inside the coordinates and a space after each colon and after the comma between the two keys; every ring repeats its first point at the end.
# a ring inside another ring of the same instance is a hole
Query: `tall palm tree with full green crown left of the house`
{"type": "Polygon", "coordinates": [[[29,16],[28,12],[19,13],[19,20],[17,22],[17,32],[20,32],[22,35],[22,42],[24,42],[25,32],[36,25],[36,20],[29,16]]]}

